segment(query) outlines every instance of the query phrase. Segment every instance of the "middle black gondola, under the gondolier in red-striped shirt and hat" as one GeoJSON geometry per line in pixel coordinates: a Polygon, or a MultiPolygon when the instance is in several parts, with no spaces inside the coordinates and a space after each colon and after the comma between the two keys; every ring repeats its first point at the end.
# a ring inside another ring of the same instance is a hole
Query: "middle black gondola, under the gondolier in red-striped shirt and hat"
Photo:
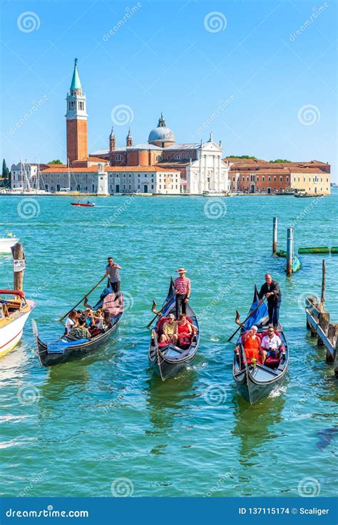
{"type": "Polygon", "coordinates": [[[193,361],[200,343],[200,331],[198,320],[193,312],[193,308],[189,304],[186,306],[186,315],[195,327],[195,334],[191,338],[190,346],[188,348],[180,348],[173,343],[160,343],[160,335],[163,323],[166,321],[169,313],[175,315],[175,289],[173,279],[170,280],[170,287],[168,296],[163,302],[165,305],[161,316],[155,323],[152,329],[148,358],[153,370],[165,381],[168,378],[173,378],[193,361]]]}

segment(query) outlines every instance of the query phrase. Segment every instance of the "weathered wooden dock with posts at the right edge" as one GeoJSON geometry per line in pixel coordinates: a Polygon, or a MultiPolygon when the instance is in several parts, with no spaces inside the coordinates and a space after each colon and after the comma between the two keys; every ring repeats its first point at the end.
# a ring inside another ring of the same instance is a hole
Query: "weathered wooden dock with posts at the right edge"
{"type": "Polygon", "coordinates": [[[326,265],[323,260],[322,266],[322,295],[320,301],[317,297],[305,299],[305,311],[307,314],[307,329],[313,337],[317,337],[317,345],[327,350],[327,362],[334,363],[334,373],[338,377],[338,323],[331,323],[329,312],[324,310],[325,303],[325,280],[326,265]]]}

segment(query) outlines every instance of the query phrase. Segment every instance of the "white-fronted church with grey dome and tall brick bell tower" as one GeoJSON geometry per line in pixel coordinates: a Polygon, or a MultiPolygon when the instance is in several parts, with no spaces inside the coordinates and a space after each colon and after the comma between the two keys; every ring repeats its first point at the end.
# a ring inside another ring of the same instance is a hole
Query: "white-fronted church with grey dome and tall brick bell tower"
{"type": "MultiPolygon", "coordinates": [[[[74,64],[66,104],[67,165],[69,169],[81,168],[81,173],[83,173],[85,168],[93,168],[98,162],[103,162],[110,167],[121,167],[121,173],[128,172],[128,167],[130,167],[130,177],[133,177],[133,173],[139,175],[145,169],[148,171],[149,168],[153,168],[154,174],[166,173],[167,180],[170,176],[175,180],[175,174],[177,172],[180,174],[178,194],[203,194],[210,190],[217,192],[229,190],[230,166],[228,162],[222,160],[221,143],[214,142],[212,134],[207,142],[201,140],[197,143],[176,143],[175,135],[165,124],[163,115],[160,115],[158,125],[150,130],[147,142],[134,145],[131,130],[128,130],[126,145],[118,146],[112,128],[107,140],[108,147],[88,155],[86,95],[82,90],[77,60],[74,64]]],[[[129,185],[137,187],[137,180],[133,181],[133,184],[128,183],[129,185]]],[[[140,185],[148,187],[148,184],[140,185]]],[[[160,190],[164,189],[159,180],[150,184],[149,189],[152,189],[152,186],[160,193],[160,190]]],[[[120,183],[116,183],[115,187],[114,184],[108,184],[108,187],[110,193],[121,191],[120,183]]],[[[173,184],[173,188],[170,189],[176,190],[176,184],[173,184]]]]}

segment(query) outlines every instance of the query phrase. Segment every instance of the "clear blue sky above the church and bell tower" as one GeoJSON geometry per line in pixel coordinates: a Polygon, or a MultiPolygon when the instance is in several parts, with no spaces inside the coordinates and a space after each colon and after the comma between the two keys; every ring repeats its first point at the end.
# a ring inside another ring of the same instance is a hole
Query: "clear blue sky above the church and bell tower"
{"type": "Polygon", "coordinates": [[[1,158],[66,160],[77,57],[89,152],[122,105],[118,145],[129,125],[146,142],[163,111],[178,142],[213,132],[225,155],[322,160],[334,179],[336,19],[331,0],[4,1],[1,158]]]}

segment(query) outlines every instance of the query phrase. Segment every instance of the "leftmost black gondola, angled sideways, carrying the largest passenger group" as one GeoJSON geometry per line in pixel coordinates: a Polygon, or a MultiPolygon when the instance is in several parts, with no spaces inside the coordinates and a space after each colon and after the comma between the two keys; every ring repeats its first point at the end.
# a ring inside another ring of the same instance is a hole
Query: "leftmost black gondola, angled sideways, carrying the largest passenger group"
{"type": "MultiPolygon", "coordinates": [[[[107,289],[106,289],[107,290],[107,289]]],[[[93,306],[93,310],[101,307],[103,304],[103,294],[98,303],[93,306]]],[[[42,366],[60,365],[78,358],[94,353],[98,348],[101,348],[106,341],[111,337],[112,333],[116,331],[118,324],[123,316],[123,295],[121,293],[121,305],[116,308],[116,311],[111,314],[111,328],[102,331],[97,336],[94,336],[89,341],[86,339],[75,339],[71,336],[63,335],[58,341],[51,343],[44,343],[41,341],[38,332],[36,321],[32,321],[34,338],[36,341],[36,349],[39,356],[39,361],[42,366]]]]}

